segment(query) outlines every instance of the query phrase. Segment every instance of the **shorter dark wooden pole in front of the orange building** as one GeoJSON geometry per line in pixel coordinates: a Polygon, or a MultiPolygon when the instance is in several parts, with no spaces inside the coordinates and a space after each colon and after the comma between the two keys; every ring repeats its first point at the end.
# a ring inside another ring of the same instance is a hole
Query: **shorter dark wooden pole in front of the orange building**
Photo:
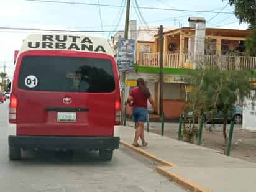
{"type": "Polygon", "coordinates": [[[160,115],[163,112],[163,25],[160,25],[158,30],[159,34],[159,41],[160,41],[160,55],[159,55],[159,63],[160,63],[160,70],[159,70],[159,84],[160,84],[160,95],[159,95],[159,109],[160,115]]]}

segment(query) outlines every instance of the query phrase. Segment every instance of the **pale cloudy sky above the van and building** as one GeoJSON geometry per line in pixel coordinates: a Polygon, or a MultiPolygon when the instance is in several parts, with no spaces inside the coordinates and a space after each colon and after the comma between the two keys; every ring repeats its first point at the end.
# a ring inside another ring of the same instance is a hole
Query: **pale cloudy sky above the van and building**
{"type": "MultiPolygon", "coordinates": [[[[53,0],[48,0],[53,1],[53,0]]],[[[82,2],[91,4],[122,5],[125,0],[55,0],[62,2],[82,2]]],[[[234,7],[226,6],[227,0],[137,0],[139,7],[159,7],[165,9],[190,9],[200,11],[234,12],[234,7]]],[[[130,6],[135,0],[130,0],[130,6]]],[[[125,9],[122,17],[120,7],[101,6],[104,31],[124,30],[125,9]],[[121,18],[119,25],[119,17],[121,18]]],[[[170,10],[140,9],[149,26],[186,27],[188,17],[204,17],[206,27],[225,29],[247,29],[247,24],[239,24],[234,14],[198,13],[170,10]],[[210,19],[210,21],[209,21],[210,19]]],[[[130,8],[130,19],[139,19],[135,8],[130,8]]],[[[12,79],[14,71],[14,50],[19,50],[22,40],[28,34],[35,33],[24,30],[4,30],[1,27],[22,27],[55,30],[102,30],[99,6],[82,4],[60,4],[53,2],[35,2],[26,0],[0,0],[0,72],[4,70],[12,79]]],[[[83,34],[80,32],[80,34],[83,34]]],[[[94,36],[109,38],[114,32],[86,32],[94,36]]]]}

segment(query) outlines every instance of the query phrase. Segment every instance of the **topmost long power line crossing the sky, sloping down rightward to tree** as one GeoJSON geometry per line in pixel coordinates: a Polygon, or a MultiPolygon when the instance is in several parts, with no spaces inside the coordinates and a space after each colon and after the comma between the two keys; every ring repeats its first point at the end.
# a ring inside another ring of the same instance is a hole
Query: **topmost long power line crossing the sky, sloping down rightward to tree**
{"type": "MultiPolygon", "coordinates": [[[[77,5],[87,5],[87,6],[99,6],[99,4],[86,3],[86,2],[68,2],[68,1],[46,1],[46,0],[24,0],[24,1],[33,1],[33,2],[48,2],[48,3],[58,3],[58,4],[77,4],[77,5]]],[[[111,4],[100,4],[101,7],[122,7],[118,5],[111,4]]],[[[130,6],[135,8],[134,6],[130,6]]],[[[218,13],[217,11],[205,11],[205,10],[190,10],[190,9],[167,9],[159,7],[139,7],[140,9],[149,9],[149,10],[162,10],[162,11],[184,11],[184,12],[204,12],[204,13],[218,13]]],[[[221,12],[222,14],[233,14],[233,12],[221,12]]]]}

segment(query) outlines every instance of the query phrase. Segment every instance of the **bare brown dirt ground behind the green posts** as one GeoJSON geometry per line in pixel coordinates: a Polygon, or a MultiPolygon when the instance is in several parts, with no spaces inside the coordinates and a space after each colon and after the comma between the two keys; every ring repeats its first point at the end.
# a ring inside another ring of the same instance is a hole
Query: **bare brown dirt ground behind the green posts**
{"type": "MultiPolygon", "coordinates": [[[[129,126],[134,127],[132,122],[129,126]]],[[[212,124],[206,125],[203,130],[203,147],[218,150],[224,154],[224,137],[222,135],[222,125],[216,124],[212,127],[212,124]],[[209,127],[212,127],[209,131],[209,127]]],[[[160,123],[150,123],[150,132],[155,134],[161,134],[160,123]]],[[[229,125],[227,126],[229,128],[229,125]]],[[[241,129],[242,126],[235,125],[234,135],[232,139],[231,157],[240,158],[249,162],[256,163],[256,132],[251,130],[241,129]]],[[[164,134],[166,137],[178,139],[178,124],[165,124],[164,134]]],[[[227,135],[229,129],[227,129],[227,135]]]]}

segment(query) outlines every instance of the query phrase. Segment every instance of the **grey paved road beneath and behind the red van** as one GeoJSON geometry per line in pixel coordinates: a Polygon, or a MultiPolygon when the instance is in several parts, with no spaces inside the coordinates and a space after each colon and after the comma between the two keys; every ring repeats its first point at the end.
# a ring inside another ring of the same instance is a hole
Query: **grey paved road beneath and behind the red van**
{"type": "Polygon", "coordinates": [[[8,103],[0,104],[0,191],[19,192],[157,192],[185,191],[153,170],[155,164],[121,146],[111,162],[98,153],[24,152],[7,155],[8,103]]]}

